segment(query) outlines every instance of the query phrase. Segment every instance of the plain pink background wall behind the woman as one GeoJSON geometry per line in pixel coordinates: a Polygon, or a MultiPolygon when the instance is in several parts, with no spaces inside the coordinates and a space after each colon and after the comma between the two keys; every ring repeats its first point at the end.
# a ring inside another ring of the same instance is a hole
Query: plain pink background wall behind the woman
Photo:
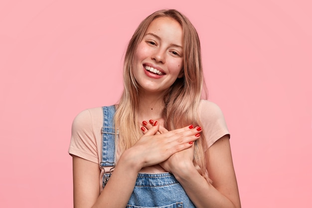
{"type": "Polygon", "coordinates": [[[127,42],[160,8],[198,30],[242,207],[312,207],[309,0],[2,0],[1,208],[72,207],[72,120],[118,100],[127,42]]]}

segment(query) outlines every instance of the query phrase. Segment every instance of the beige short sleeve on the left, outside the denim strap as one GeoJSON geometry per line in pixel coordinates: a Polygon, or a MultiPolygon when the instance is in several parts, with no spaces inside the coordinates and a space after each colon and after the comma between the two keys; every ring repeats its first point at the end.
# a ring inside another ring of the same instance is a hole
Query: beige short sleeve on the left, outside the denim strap
{"type": "Polygon", "coordinates": [[[72,123],[68,153],[94,163],[99,163],[92,116],[89,110],[79,113],[72,123]]]}

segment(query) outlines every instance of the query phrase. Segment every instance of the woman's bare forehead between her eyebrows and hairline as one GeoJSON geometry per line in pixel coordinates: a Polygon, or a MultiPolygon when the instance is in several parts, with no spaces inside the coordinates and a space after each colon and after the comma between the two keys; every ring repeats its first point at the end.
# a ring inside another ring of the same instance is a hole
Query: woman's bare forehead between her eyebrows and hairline
{"type": "Polygon", "coordinates": [[[172,37],[178,41],[183,40],[182,26],[170,17],[158,17],[147,28],[146,34],[153,33],[159,37],[172,37]]]}

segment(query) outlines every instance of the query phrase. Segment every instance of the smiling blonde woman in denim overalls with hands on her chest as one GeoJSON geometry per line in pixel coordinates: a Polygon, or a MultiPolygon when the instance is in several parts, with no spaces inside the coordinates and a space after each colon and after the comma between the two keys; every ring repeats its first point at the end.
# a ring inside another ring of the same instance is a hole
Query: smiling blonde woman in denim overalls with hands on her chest
{"type": "Polygon", "coordinates": [[[75,208],[240,208],[229,133],[201,99],[200,43],[184,15],[159,10],[141,22],[124,85],[118,105],[73,122],[75,208]]]}

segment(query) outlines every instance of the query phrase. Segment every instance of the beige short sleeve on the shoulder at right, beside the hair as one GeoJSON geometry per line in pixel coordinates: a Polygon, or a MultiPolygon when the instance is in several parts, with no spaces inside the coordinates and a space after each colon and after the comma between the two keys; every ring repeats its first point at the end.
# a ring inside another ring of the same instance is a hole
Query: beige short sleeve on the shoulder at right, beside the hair
{"type": "Polygon", "coordinates": [[[230,135],[223,113],[215,103],[201,100],[199,104],[199,118],[208,148],[221,137],[230,135]]]}

